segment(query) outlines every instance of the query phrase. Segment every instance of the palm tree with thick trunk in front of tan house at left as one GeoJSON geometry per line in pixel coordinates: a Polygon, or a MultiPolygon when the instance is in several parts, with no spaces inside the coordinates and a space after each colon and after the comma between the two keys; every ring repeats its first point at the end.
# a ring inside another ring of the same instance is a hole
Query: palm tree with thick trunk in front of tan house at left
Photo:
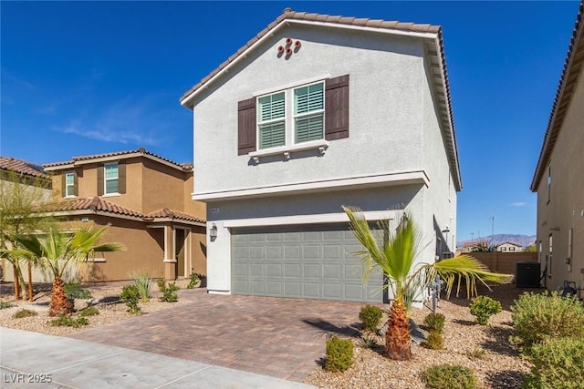
{"type": "Polygon", "coordinates": [[[49,228],[40,238],[37,235],[19,235],[16,241],[20,248],[9,255],[42,262],[53,274],[53,290],[49,305],[49,316],[68,314],[71,302],[65,292],[63,273],[71,261],[86,261],[96,251],[109,252],[124,250],[120,243],[99,243],[108,227],[92,226],[68,233],[49,228]]]}

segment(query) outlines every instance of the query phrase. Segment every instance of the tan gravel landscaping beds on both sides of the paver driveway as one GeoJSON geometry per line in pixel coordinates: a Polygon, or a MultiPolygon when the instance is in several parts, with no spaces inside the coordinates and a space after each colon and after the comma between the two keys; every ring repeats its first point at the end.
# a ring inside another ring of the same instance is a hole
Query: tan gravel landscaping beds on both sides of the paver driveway
{"type": "MultiPolygon", "coordinates": [[[[6,284],[5,284],[6,285],[6,284]]],[[[5,286],[4,285],[4,286],[5,286]]],[[[181,285],[184,288],[184,285],[181,285]]],[[[156,286],[154,285],[156,289],[156,286]]],[[[14,302],[7,288],[3,288],[2,302],[14,302]]],[[[89,316],[89,325],[82,328],[98,327],[109,322],[118,322],[132,317],[124,303],[115,303],[121,286],[102,286],[89,288],[93,295],[99,314],[89,316]]],[[[471,368],[484,388],[517,388],[521,386],[530,364],[521,359],[510,347],[507,338],[511,333],[511,312],[509,306],[524,291],[514,285],[494,286],[493,292],[481,290],[485,294],[502,302],[503,312],[493,316],[488,326],[474,321],[468,304],[470,300],[451,297],[443,300],[437,312],[444,314],[444,349],[430,350],[423,345],[413,344],[413,360],[407,362],[391,361],[382,355],[382,339],[373,348],[365,347],[358,339],[355,344],[355,362],[344,373],[328,373],[316,361],[315,369],[305,378],[304,383],[322,388],[424,388],[422,371],[440,363],[462,364],[471,368]]],[[[16,302],[16,306],[0,310],[0,326],[11,327],[38,333],[64,335],[79,331],[72,327],[56,327],[49,324],[48,301],[50,291],[37,292],[35,301],[16,302]],[[38,312],[36,316],[14,319],[13,314],[20,309],[38,312]]],[[[143,314],[176,307],[188,303],[179,298],[178,302],[159,302],[159,292],[152,292],[150,302],[141,302],[143,314]]],[[[423,318],[431,310],[428,307],[412,309],[412,319],[422,324],[423,318]]],[[[356,322],[358,322],[356,318],[356,322]]],[[[423,327],[422,327],[423,330],[423,327]]],[[[324,347],[323,347],[324,348],[324,347]]]]}

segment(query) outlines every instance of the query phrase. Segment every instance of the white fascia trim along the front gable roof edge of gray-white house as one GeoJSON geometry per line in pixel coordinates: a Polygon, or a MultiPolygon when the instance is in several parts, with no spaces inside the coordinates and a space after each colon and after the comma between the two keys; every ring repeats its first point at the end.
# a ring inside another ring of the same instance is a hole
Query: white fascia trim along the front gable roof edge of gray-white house
{"type": "MultiPolygon", "coordinates": [[[[286,20],[285,23],[280,23],[276,27],[274,27],[274,29],[272,31],[270,31],[269,34],[266,34],[265,36],[262,36],[261,38],[259,38],[252,46],[247,47],[244,50],[244,52],[242,52],[239,56],[237,56],[235,58],[235,60],[233,62],[228,64],[226,67],[221,69],[219,72],[217,72],[217,74],[215,74],[214,77],[211,77],[211,79],[207,80],[201,87],[194,90],[189,96],[184,97],[184,99],[181,101],[181,105],[183,107],[189,107],[189,103],[191,103],[193,98],[196,97],[199,93],[201,93],[204,89],[209,87],[209,85],[211,83],[213,83],[215,78],[221,77],[224,73],[228,73],[232,67],[235,67],[235,65],[239,63],[239,61],[245,59],[247,57],[247,55],[245,54],[246,51],[253,50],[255,46],[261,45],[266,39],[271,38],[272,36],[276,35],[276,32],[279,29],[283,28],[284,26],[289,26],[292,24],[308,25],[308,26],[336,27],[336,28],[345,28],[345,29],[350,29],[350,30],[360,30],[360,31],[382,33],[382,34],[391,34],[391,35],[396,35],[396,36],[416,36],[416,37],[431,38],[431,39],[437,38],[437,36],[438,36],[438,34],[436,34],[436,33],[416,33],[416,32],[411,32],[411,31],[393,30],[393,29],[381,28],[381,27],[341,25],[341,24],[336,24],[336,23],[313,22],[313,21],[294,20],[294,19],[286,20]]],[[[189,108],[193,109],[193,107],[189,107],[189,108]]]]}

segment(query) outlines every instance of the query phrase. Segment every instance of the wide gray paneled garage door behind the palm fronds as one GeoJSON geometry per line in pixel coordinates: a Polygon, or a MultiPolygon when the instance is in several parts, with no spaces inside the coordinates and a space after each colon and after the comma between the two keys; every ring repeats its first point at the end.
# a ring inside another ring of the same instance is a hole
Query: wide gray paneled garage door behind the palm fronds
{"type": "Polygon", "coordinates": [[[234,230],[232,285],[237,294],[383,302],[381,274],[367,284],[347,224],[234,230]]]}

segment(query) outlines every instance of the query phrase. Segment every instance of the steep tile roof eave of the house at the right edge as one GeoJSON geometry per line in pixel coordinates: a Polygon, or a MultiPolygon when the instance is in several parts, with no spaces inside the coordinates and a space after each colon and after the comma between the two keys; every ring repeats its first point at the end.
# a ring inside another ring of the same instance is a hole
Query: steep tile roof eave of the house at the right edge
{"type": "Polygon", "coordinates": [[[580,1],[579,13],[576,16],[574,31],[569,41],[568,54],[559,77],[558,91],[551,108],[549,121],[547,122],[546,135],[539,151],[537,168],[531,181],[531,191],[537,191],[539,182],[545,174],[551,153],[556,145],[559,130],[564,123],[568,107],[576,91],[578,80],[582,77],[584,68],[584,0],[580,1]]]}

